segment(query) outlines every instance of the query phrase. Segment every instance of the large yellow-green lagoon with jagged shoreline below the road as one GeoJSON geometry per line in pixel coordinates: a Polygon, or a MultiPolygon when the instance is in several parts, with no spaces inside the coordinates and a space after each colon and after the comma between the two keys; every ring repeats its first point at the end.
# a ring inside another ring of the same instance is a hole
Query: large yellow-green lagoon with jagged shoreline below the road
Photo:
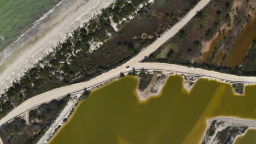
{"type": "Polygon", "coordinates": [[[158,97],[139,101],[138,81],[126,76],[92,92],[50,141],[53,143],[199,143],[206,119],[256,119],[256,86],[234,95],[227,83],[198,80],[191,92],[170,76],[158,97]]]}

